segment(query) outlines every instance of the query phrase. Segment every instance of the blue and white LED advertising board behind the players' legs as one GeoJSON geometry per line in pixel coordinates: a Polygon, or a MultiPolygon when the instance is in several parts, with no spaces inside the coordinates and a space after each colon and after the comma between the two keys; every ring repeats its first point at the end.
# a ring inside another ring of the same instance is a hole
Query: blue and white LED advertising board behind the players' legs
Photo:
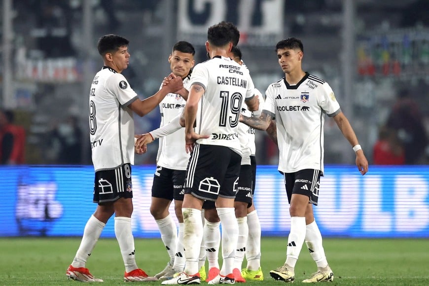
{"type": "MultiPolygon", "coordinates": [[[[155,167],[133,169],[133,234],[159,237],[149,213],[155,167]]],[[[81,236],[94,211],[92,166],[0,168],[0,236],[81,236]],[[76,179],[78,178],[78,179],[76,179]],[[77,203],[78,202],[78,203],[77,203]]],[[[429,168],[329,166],[321,179],[315,216],[325,237],[429,237],[429,168]]],[[[263,236],[287,236],[289,208],[283,177],[274,166],[259,166],[255,207],[263,236]]],[[[174,214],[174,206],[170,213],[174,214]]],[[[176,219],[176,217],[174,218],[176,219]]],[[[108,222],[103,237],[114,237],[108,222]]]]}

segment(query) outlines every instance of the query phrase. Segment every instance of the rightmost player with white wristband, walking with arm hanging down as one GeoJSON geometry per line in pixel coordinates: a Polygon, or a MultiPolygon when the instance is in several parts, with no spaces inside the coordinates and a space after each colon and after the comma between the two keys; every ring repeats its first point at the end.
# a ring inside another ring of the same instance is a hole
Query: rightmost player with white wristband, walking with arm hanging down
{"type": "Polygon", "coordinates": [[[274,118],[277,123],[271,138],[279,146],[279,171],[284,174],[290,203],[290,233],[286,262],[270,271],[270,276],[293,282],[295,264],[305,241],[318,270],[303,282],[332,281],[333,272],[326,260],[322,235],[313,214],[313,205],[318,203],[320,177],[323,175],[324,114],[334,119],[353,146],[361,175],[368,171],[368,161],[331,87],[324,80],[302,70],[302,42],[296,38],[281,40],[276,45],[276,52],[285,77],[267,88],[260,117],[243,116],[240,119],[259,130],[266,130],[274,118]]]}

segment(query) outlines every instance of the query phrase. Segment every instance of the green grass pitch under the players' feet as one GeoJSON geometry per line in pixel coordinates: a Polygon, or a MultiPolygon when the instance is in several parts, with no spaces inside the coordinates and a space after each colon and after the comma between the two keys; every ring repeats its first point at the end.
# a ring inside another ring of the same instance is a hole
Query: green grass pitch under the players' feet
{"type": "MultiPolygon", "coordinates": [[[[168,255],[161,240],[135,241],[139,267],[151,276],[162,270],[168,255]]],[[[65,275],[79,242],[80,238],[1,238],[0,285],[80,285],[65,275]]],[[[328,238],[323,245],[335,276],[328,285],[429,285],[428,239],[328,238]]],[[[286,238],[263,237],[261,264],[265,279],[248,284],[284,285],[274,281],[269,271],[285,262],[285,252],[286,238]]],[[[95,277],[104,279],[102,285],[125,284],[124,266],[114,239],[99,240],[87,267],[95,277]]],[[[301,285],[315,270],[316,264],[304,245],[295,267],[294,285],[301,285]]]]}

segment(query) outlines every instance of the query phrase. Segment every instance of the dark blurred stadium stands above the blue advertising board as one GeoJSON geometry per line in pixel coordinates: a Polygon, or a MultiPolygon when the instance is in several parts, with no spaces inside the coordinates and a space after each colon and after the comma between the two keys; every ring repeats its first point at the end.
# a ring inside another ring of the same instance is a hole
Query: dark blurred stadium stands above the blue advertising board
{"type": "MultiPolygon", "coordinates": [[[[207,27],[227,20],[241,31],[243,59],[262,93],[283,76],[276,42],[299,37],[304,70],[331,85],[371,164],[427,164],[428,6],[425,0],[2,0],[0,103],[23,127],[25,147],[20,160],[2,163],[91,163],[88,94],[102,66],[100,36],[130,40],[124,74],[144,98],[169,73],[176,41],[190,41],[201,62],[207,27]],[[403,149],[405,158],[389,160],[386,146],[403,149]]],[[[159,121],[157,110],[136,118],[136,132],[159,121]]],[[[325,162],[353,164],[349,144],[339,137],[327,120],[325,162]]],[[[154,164],[156,149],[150,145],[137,164],[154,164]]],[[[278,160],[262,132],[256,156],[258,164],[278,160]]]]}

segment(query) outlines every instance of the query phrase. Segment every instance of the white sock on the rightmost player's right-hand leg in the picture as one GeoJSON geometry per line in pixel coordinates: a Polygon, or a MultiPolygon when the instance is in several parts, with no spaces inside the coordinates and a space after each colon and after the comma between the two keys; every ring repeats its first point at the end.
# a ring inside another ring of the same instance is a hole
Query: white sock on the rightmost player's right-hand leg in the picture
{"type": "Polygon", "coordinates": [[[320,233],[316,220],[308,224],[306,228],[305,244],[307,245],[308,251],[310,251],[311,257],[313,257],[318,268],[328,266],[328,261],[326,260],[322,245],[322,234],[320,233]]]}

